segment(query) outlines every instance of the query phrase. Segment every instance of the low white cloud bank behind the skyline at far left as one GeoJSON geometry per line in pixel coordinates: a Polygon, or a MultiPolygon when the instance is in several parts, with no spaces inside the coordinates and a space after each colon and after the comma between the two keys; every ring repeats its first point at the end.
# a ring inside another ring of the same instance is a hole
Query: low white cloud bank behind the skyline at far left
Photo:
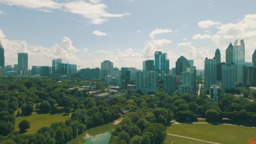
{"type": "Polygon", "coordinates": [[[51,60],[56,58],[62,58],[63,62],[81,64],[74,51],[77,51],[72,46],[72,41],[68,37],[64,37],[61,41],[61,45],[54,44],[51,47],[34,46],[27,44],[24,40],[9,40],[3,36],[4,33],[0,29],[1,43],[4,47],[4,56],[6,64],[18,63],[17,53],[28,53],[28,65],[31,68],[32,65],[51,65],[51,60]]]}

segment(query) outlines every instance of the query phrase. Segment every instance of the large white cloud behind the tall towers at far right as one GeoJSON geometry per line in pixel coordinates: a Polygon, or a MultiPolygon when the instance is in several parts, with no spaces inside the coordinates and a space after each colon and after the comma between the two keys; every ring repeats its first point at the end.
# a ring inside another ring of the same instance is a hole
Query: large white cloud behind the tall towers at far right
{"type": "Polygon", "coordinates": [[[223,23],[217,27],[217,33],[211,37],[216,43],[225,61],[225,50],[230,41],[234,43],[236,39],[245,40],[246,61],[252,61],[252,53],[256,47],[256,14],[248,14],[236,23],[223,23]]]}

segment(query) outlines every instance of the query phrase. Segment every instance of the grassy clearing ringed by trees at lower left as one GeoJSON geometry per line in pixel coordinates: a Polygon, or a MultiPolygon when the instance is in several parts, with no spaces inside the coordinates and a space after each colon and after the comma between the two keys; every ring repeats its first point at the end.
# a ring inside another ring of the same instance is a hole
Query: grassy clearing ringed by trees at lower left
{"type": "Polygon", "coordinates": [[[26,119],[28,122],[30,122],[30,129],[27,129],[27,132],[25,134],[33,134],[42,127],[50,127],[50,125],[53,123],[65,122],[69,118],[71,118],[71,114],[65,115],[65,113],[57,113],[51,115],[50,113],[38,114],[36,112],[33,112],[30,116],[16,117],[15,130],[19,130],[19,123],[23,119],[26,119]]]}

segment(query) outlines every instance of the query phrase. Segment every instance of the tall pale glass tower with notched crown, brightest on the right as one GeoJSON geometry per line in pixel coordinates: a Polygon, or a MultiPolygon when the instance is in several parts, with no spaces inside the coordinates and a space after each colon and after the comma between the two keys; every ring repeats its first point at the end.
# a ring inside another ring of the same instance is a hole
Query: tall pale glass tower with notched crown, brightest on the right
{"type": "Polygon", "coordinates": [[[244,63],[245,62],[245,42],[240,40],[240,43],[237,43],[238,40],[234,42],[233,49],[233,62],[236,63],[244,63]]]}

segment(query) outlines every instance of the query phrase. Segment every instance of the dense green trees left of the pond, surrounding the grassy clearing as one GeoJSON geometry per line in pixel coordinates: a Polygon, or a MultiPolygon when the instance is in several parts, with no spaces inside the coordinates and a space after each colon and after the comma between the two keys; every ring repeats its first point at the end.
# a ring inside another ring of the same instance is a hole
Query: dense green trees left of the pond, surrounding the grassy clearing
{"type": "Polygon", "coordinates": [[[66,143],[88,128],[117,119],[127,101],[123,97],[95,99],[88,91],[69,89],[83,86],[80,80],[5,77],[0,83],[0,143],[66,143]],[[19,108],[21,112],[15,113],[19,108]],[[72,116],[66,122],[40,128],[36,134],[14,131],[16,116],[29,116],[35,110],[72,112],[72,116]]]}

